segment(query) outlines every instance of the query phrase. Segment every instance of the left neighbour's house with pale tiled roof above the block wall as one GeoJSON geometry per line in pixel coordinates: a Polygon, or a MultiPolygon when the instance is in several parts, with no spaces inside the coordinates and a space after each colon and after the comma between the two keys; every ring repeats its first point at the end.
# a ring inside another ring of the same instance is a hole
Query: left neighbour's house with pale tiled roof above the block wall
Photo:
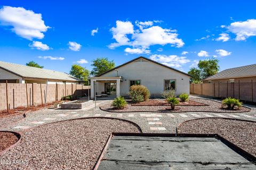
{"type": "Polygon", "coordinates": [[[80,83],[67,73],[0,61],[0,83],[80,83]]]}

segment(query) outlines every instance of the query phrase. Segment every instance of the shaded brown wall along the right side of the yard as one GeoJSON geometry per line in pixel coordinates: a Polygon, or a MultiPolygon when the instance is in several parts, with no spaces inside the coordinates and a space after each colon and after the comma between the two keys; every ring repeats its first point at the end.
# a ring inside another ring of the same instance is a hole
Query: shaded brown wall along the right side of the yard
{"type": "Polygon", "coordinates": [[[256,82],[190,84],[190,94],[256,102],[256,82]]]}

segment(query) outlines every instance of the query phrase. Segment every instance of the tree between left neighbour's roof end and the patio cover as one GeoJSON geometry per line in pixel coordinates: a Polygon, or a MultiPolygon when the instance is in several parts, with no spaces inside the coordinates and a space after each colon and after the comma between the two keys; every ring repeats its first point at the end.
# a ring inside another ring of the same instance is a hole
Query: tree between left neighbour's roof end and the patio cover
{"type": "Polygon", "coordinates": [[[85,67],[82,67],[79,64],[73,64],[71,66],[71,70],[69,71],[69,74],[73,75],[78,79],[85,81],[86,82],[85,84],[88,84],[90,71],[87,70],[85,67]]]}

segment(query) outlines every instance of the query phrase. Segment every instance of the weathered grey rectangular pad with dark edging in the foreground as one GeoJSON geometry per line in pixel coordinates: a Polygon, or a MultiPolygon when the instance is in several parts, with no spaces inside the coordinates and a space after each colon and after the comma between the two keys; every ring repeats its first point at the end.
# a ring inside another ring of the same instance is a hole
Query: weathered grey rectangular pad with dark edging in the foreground
{"type": "Polygon", "coordinates": [[[114,136],[106,153],[98,170],[256,169],[215,138],[114,136]]]}

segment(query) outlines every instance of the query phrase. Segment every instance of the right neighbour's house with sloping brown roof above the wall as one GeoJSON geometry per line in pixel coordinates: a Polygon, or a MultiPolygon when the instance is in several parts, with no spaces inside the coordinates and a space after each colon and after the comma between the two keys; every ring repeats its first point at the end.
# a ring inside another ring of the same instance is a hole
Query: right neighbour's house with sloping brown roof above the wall
{"type": "Polygon", "coordinates": [[[230,83],[230,82],[255,82],[256,64],[235,67],[223,70],[209,78],[203,80],[203,83],[230,83]]]}

